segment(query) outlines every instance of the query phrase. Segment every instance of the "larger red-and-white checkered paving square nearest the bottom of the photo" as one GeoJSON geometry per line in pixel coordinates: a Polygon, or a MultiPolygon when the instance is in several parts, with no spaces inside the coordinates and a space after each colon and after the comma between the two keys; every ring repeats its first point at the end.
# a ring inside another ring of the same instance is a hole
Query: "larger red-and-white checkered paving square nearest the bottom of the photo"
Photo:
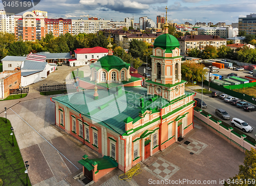
{"type": "Polygon", "coordinates": [[[162,157],[158,157],[158,160],[149,167],[144,167],[144,170],[150,172],[157,178],[164,180],[172,177],[180,168],[162,157]]]}

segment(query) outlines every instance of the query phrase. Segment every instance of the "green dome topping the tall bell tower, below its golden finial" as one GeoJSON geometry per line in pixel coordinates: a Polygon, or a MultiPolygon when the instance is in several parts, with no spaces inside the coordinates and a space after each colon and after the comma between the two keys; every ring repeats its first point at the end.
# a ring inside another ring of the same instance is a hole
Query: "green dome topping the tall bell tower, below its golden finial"
{"type": "Polygon", "coordinates": [[[179,48],[179,46],[180,43],[178,39],[170,34],[162,34],[158,36],[154,42],[154,48],[161,47],[163,49],[166,49],[168,47],[171,47],[171,49],[174,49],[176,47],[179,48]]]}

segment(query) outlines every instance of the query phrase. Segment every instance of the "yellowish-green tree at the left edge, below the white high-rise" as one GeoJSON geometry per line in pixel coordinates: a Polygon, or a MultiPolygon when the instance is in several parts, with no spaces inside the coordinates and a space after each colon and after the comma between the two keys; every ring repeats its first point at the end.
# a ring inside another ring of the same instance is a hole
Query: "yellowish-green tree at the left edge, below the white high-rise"
{"type": "Polygon", "coordinates": [[[7,56],[9,46],[15,41],[14,34],[0,32],[0,59],[7,56]]]}

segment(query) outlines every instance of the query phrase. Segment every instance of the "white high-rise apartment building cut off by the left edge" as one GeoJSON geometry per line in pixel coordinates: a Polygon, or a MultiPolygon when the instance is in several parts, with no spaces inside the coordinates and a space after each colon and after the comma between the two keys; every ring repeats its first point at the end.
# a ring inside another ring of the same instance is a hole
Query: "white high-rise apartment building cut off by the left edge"
{"type": "Polygon", "coordinates": [[[14,33],[14,13],[0,10],[0,32],[14,33]]]}

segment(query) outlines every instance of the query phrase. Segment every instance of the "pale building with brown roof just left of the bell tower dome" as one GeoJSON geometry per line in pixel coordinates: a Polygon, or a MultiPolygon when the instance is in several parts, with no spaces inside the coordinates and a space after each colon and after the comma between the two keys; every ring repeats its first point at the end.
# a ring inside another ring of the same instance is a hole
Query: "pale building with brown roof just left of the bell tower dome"
{"type": "Polygon", "coordinates": [[[123,36],[123,48],[129,48],[129,42],[133,39],[147,42],[148,44],[154,44],[155,39],[162,34],[131,34],[123,36]]]}

